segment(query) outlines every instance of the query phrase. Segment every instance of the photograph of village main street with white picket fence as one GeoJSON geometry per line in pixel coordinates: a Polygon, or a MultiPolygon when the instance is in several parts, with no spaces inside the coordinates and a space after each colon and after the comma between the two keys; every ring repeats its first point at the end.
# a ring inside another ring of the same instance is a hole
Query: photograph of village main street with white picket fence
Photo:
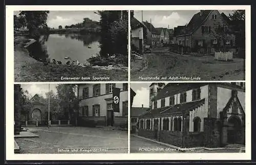
{"type": "Polygon", "coordinates": [[[131,11],[131,80],[245,80],[245,10],[131,11]]]}

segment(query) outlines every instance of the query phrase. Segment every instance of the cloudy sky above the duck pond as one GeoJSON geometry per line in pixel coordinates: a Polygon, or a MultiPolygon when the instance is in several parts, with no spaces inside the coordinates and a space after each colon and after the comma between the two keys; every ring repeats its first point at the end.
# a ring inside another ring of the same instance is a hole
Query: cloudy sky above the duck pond
{"type": "MultiPolygon", "coordinates": [[[[58,28],[59,25],[66,26],[82,22],[86,17],[99,21],[100,16],[94,12],[96,11],[50,11],[47,24],[50,28],[58,28]]],[[[19,13],[19,11],[15,11],[14,15],[19,13]]]]}

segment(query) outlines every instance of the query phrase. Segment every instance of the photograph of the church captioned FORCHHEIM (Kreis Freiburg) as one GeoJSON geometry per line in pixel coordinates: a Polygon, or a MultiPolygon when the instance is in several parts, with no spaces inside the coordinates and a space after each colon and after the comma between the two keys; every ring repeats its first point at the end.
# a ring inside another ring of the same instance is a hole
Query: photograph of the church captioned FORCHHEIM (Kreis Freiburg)
{"type": "Polygon", "coordinates": [[[131,83],[131,153],[244,153],[245,82],[131,83]]]}

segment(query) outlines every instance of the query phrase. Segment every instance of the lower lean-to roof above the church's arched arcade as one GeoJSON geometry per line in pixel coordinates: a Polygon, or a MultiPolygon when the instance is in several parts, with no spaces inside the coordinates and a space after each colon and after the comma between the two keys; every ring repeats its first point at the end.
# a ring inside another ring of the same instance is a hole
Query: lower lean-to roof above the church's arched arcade
{"type": "Polygon", "coordinates": [[[172,106],[160,107],[160,108],[156,108],[156,109],[152,109],[151,111],[148,111],[148,113],[141,115],[141,117],[163,116],[163,115],[181,113],[182,111],[191,111],[201,106],[202,104],[204,104],[204,102],[205,102],[205,99],[201,99],[198,101],[191,101],[191,102],[176,104],[172,106]]]}

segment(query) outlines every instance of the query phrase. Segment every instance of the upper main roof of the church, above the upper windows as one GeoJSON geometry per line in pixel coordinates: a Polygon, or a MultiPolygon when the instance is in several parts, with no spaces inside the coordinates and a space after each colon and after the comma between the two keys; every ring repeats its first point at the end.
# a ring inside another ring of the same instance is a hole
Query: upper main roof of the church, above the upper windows
{"type": "Polygon", "coordinates": [[[194,88],[199,88],[201,86],[205,86],[206,82],[200,82],[200,83],[169,83],[167,84],[162,90],[159,91],[159,93],[156,96],[156,100],[173,96],[177,93],[188,91],[194,88]]]}

